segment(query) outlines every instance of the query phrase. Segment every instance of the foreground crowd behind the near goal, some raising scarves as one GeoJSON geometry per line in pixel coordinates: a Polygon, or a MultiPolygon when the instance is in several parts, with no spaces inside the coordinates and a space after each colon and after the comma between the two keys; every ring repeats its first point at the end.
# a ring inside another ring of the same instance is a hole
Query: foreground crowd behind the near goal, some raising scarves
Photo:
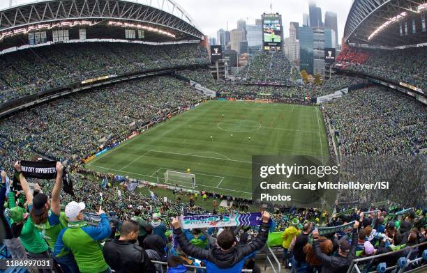
{"type": "MultiPolygon", "coordinates": [[[[179,201],[140,196],[121,185],[100,189],[95,180],[79,173],[72,174],[78,181],[78,194],[71,198],[61,192],[60,162],[55,181],[42,182],[31,191],[19,162],[14,169],[22,190],[7,180],[8,173],[1,172],[3,244],[13,258],[53,256],[55,272],[158,272],[161,265],[152,261],[167,262],[168,272],[195,272],[185,265],[205,266],[207,272],[241,272],[242,268],[260,272],[255,255],[266,244],[271,225],[282,231],[282,262],[292,267],[291,272],[303,268],[306,272],[346,272],[354,258],[391,253],[359,264],[368,271],[379,263],[396,265],[398,258],[427,238],[425,211],[410,210],[396,219],[391,213],[396,208],[384,206],[372,213],[354,210],[331,217],[315,209],[276,209],[271,215],[262,212],[260,226],[183,230],[178,214],[207,211],[179,201]],[[98,214],[87,214],[93,210],[98,214]],[[321,232],[347,223],[345,228],[321,232]]],[[[368,211],[374,209],[371,206],[368,211]]],[[[342,210],[345,208],[336,205],[336,212],[342,210]]],[[[424,249],[426,244],[413,249],[411,260],[424,249]]]]}

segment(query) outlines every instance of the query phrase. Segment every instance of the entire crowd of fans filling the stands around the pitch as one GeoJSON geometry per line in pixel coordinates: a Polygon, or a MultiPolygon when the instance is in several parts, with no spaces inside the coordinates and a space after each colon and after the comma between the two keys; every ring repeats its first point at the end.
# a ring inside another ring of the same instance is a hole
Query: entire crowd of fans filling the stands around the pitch
{"type": "MultiPolygon", "coordinates": [[[[207,63],[198,45],[151,47],[102,43],[96,47],[75,44],[32,50],[36,52],[0,56],[3,102],[98,75],[207,63]],[[101,51],[98,46],[105,50],[101,51]],[[91,61],[93,56],[99,61],[91,61]],[[20,61],[13,61],[13,58],[20,61]],[[36,65],[31,67],[32,63],[36,65]]],[[[347,52],[342,61],[375,63],[371,55],[369,59],[364,58],[363,52],[354,55],[347,52]]],[[[354,77],[334,76],[322,86],[310,89],[249,85],[289,84],[297,78],[297,70],[280,52],[256,55],[239,72],[241,80],[236,82],[218,84],[207,70],[181,71],[177,75],[197,81],[217,91],[218,95],[228,93],[227,98],[283,102],[302,102],[363,82],[354,77]]],[[[130,191],[126,187],[127,180],[124,184],[113,182],[113,175],[107,175],[112,185],[100,187],[105,175],[87,172],[74,164],[96,153],[106,143],[126,137],[143,124],[156,123],[170,111],[190,107],[201,100],[204,97],[200,93],[179,79],[151,77],[76,93],[0,120],[0,153],[3,154],[0,166],[4,169],[0,185],[0,227],[5,231],[1,234],[3,244],[12,257],[54,257],[55,272],[158,271],[159,265],[151,260],[167,262],[168,272],[195,271],[184,265],[204,265],[207,272],[241,272],[242,268],[260,272],[255,254],[264,247],[270,232],[280,231],[283,232],[280,244],[283,265],[292,267],[292,272],[302,267],[307,272],[347,272],[354,258],[379,253],[393,254],[372,260],[364,269],[374,269],[382,262],[396,265],[400,256],[407,256],[410,246],[426,241],[426,211],[415,209],[400,219],[387,208],[380,208],[377,213],[352,212],[330,217],[328,211],[315,208],[273,207],[269,208],[271,214],[262,212],[260,226],[183,230],[176,218],[179,214],[218,214],[221,211],[215,208],[211,212],[196,206],[193,198],[197,195],[193,193],[177,191],[174,192],[176,200],[165,200],[142,194],[140,189],[130,191]],[[15,160],[36,154],[61,158],[69,163],[75,196],[61,191],[63,166],[60,162],[56,166],[55,182],[27,181],[20,163],[15,160]],[[14,171],[19,187],[13,185],[14,171]],[[28,182],[37,184],[30,189],[28,182]],[[181,194],[189,196],[190,201],[181,200],[181,194]],[[94,214],[95,211],[98,214],[94,214]],[[327,234],[319,234],[316,229],[347,223],[351,224],[345,229],[327,234]]],[[[397,158],[398,155],[412,156],[427,148],[425,106],[405,95],[378,87],[364,88],[324,104],[323,110],[337,130],[342,155],[397,158]]],[[[389,169],[397,168],[388,164],[389,169]]],[[[347,174],[352,177],[353,173],[350,168],[347,174]]],[[[375,174],[383,173],[366,169],[362,176],[373,179],[375,174]]],[[[405,171],[400,176],[412,178],[405,171]]],[[[414,181],[423,182],[417,179],[414,181]]],[[[411,190],[400,187],[394,193],[410,200],[420,188],[422,185],[414,184],[411,190]]],[[[345,191],[340,192],[340,198],[360,197],[358,204],[373,210],[370,202],[384,197],[378,193],[345,191]]],[[[209,201],[233,203],[223,212],[246,211],[250,203],[215,193],[202,195],[209,201]]],[[[417,202],[420,207],[425,205],[422,192],[418,192],[417,202]]],[[[345,208],[335,210],[340,212],[345,208]]],[[[421,256],[424,249],[426,244],[414,251],[411,258],[421,256]]]]}

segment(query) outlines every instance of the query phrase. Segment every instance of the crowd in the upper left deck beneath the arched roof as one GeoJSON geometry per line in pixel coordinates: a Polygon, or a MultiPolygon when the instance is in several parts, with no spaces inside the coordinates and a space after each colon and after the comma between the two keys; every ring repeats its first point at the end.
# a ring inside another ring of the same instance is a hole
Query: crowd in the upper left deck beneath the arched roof
{"type": "Polygon", "coordinates": [[[84,79],[207,63],[197,44],[86,42],[24,49],[0,56],[0,104],[84,79]]]}

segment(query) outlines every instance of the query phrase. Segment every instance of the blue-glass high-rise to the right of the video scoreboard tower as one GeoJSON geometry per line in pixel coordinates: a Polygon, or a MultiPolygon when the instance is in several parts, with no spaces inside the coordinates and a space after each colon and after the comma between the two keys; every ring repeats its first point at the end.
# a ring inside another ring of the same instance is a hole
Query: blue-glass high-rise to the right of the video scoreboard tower
{"type": "Polygon", "coordinates": [[[302,26],[299,34],[299,68],[313,75],[313,29],[310,26],[302,26]]]}

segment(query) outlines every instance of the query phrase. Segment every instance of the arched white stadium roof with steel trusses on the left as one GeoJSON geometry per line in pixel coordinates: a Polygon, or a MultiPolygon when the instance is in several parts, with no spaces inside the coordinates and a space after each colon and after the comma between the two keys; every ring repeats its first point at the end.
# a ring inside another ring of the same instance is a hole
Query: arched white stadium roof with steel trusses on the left
{"type": "MultiPolygon", "coordinates": [[[[194,20],[174,0],[44,0],[20,1],[19,5],[0,10],[0,41],[7,36],[28,33],[77,22],[139,25],[144,31],[170,33],[174,40],[202,39],[203,33],[194,20]],[[163,31],[163,32],[162,32],[163,31]]],[[[75,23],[74,23],[75,24],[75,23]]],[[[73,24],[73,26],[74,26],[73,24]]],[[[111,25],[110,26],[117,26],[111,25]]],[[[124,25],[123,25],[124,27],[124,25]]],[[[131,28],[132,26],[130,26],[131,28]]],[[[169,37],[169,38],[170,38],[169,37]]],[[[156,40],[158,36],[156,36],[156,40]]],[[[169,39],[170,40],[170,39],[169,39]]]]}

